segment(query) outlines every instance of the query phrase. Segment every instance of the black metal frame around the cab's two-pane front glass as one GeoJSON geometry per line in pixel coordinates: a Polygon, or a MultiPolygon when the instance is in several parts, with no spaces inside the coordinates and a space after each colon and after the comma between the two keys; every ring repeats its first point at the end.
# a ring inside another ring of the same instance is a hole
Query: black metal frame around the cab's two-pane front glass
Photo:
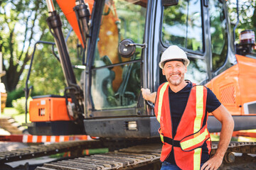
{"type": "MultiPolygon", "coordinates": [[[[100,15],[100,10],[103,10],[103,7],[105,5],[105,2],[104,1],[99,1],[98,2],[99,4],[97,4],[97,1],[95,2],[95,6],[97,6],[98,8],[96,8],[96,10],[92,11],[92,26],[91,26],[91,29],[90,30],[93,30],[92,33],[90,33],[91,37],[90,37],[90,40],[88,41],[88,47],[87,47],[87,58],[89,59],[87,61],[87,69],[86,69],[86,75],[85,75],[85,98],[87,99],[87,102],[85,104],[85,118],[92,118],[94,117],[93,115],[97,115],[97,113],[101,112],[101,113],[110,113],[109,111],[110,110],[104,110],[104,111],[96,111],[94,108],[94,103],[92,101],[92,96],[91,96],[91,92],[90,92],[90,88],[92,86],[92,72],[96,69],[102,69],[102,68],[109,68],[109,67],[114,67],[114,66],[121,66],[121,65],[124,65],[124,64],[132,64],[132,63],[136,63],[136,62],[141,62],[141,69],[142,67],[144,67],[144,59],[145,59],[145,55],[146,55],[146,42],[144,41],[144,44],[143,44],[143,50],[142,50],[142,57],[140,60],[132,60],[132,61],[129,61],[129,62],[120,62],[120,63],[117,63],[117,64],[111,64],[111,65],[107,65],[107,66],[102,66],[102,67],[97,67],[97,68],[94,68],[92,67],[92,62],[93,62],[93,58],[94,58],[94,54],[95,54],[95,46],[96,46],[96,43],[95,42],[90,42],[91,40],[95,41],[95,38],[97,38],[97,36],[95,35],[98,35],[99,33],[99,27],[100,27],[100,21],[101,21],[101,18],[99,18],[99,15],[100,15]],[[100,4],[102,3],[102,4],[100,4]],[[97,14],[96,14],[97,13],[97,14]],[[94,18],[94,16],[96,18],[94,18]],[[97,25],[97,26],[95,26],[97,25]],[[93,28],[95,26],[95,28],[93,28]],[[93,48],[92,48],[93,47],[93,48]],[[90,100],[88,100],[88,98],[90,100]]],[[[150,3],[149,3],[150,4],[150,3]]],[[[147,8],[147,15],[149,15],[149,8],[147,8]]],[[[148,17],[148,20],[149,20],[149,17],[148,17]]],[[[148,26],[145,26],[145,30],[147,30],[148,26]]],[[[146,38],[146,33],[144,34],[144,38],[146,38]]],[[[139,44],[140,45],[140,44],[139,44]]],[[[141,86],[143,86],[143,81],[144,81],[144,78],[143,78],[143,74],[141,74],[141,86]]],[[[85,100],[86,101],[86,100],[85,100]]],[[[152,106],[150,103],[149,103],[150,107],[153,108],[154,106],[152,106]]],[[[145,108],[144,109],[139,109],[139,108],[143,108],[144,107],[144,101],[143,101],[143,98],[142,98],[142,95],[139,95],[139,98],[138,98],[138,103],[137,103],[137,108],[124,108],[124,109],[120,109],[120,112],[124,113],[124,110],[127,111],[127,115],[148,115],[145,111],[145,108]],[[139,110],[139,113],[137,113],[137,110],[139,110]],[[143,111],[144,110],[144,111],[143,111]]],[[[112,109],[114,111],[114,109],[112,109]]],[[[118,112],[119,109],[116,109],[114,112],[118,112]]],[[[125,114],[125,113],[124,113],[125,114]]],[[[108,114],[107,114],[108,115],[108,114]]],[[[106,116],[107,116],[106,115],[106,116]]],[[[115,115],[115,114],[113,114],[115,115]]],[[[110,117],[112,117],[113,115],[110,114],[110,117]]],[[[123,114],[121,114],[123,115],[123,114]]],[[[152,114],[153,115],[153,114],[152,114]]]]}

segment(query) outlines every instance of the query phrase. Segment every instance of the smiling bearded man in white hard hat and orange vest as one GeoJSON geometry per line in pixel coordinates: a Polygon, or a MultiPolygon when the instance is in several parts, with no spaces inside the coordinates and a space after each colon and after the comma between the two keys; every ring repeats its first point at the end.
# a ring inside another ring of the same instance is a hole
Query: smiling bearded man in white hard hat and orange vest
{"type": "Polygon", "coordinates": [[[171,45],[159,62],[168,82],[161,84],[157,93],[151,94],[149,89],[142,89],[142,96],[155,103],[159,133],[164,143],[161,169],[215,170],[223,162],[234,121],[210,89],[184,80],[188,64],[186,53],[178,46],[171,45]],[[211,158],[208,113],[222,123],[218,149],[211,158]]]}

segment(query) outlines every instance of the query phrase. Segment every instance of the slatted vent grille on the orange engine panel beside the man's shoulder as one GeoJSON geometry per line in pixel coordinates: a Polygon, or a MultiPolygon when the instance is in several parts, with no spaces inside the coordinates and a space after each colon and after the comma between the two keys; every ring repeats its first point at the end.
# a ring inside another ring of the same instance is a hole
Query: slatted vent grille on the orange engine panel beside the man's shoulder
{"type": "Polygon", "coordinates": [[[233,84],[220,88],[220,102],[229,106],[235,105],[235,86],[233,84]]]}

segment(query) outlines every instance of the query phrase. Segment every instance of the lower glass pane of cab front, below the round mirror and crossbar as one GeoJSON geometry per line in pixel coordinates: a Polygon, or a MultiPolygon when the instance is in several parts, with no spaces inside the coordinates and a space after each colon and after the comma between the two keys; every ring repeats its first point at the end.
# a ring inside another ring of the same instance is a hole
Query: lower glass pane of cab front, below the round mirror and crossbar
{"type": "MultiPolygon", "coordinates": [[[[103,62],[97,63],[104,65],[103,62]]],[[[140,62],[92,71],[95,109],[136,108],[140,93],[140,62]]]]}

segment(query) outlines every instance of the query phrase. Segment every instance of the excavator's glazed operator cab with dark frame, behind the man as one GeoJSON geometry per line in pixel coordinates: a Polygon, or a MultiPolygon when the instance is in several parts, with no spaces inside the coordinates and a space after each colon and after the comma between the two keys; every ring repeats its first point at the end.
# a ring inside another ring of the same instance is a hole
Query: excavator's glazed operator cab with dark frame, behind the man
{"type": "Polygon", "coordinates": [[[169,45],[186,49],[191,57],[192,68],[188,69],[191,71],[187,79],[196,83],[208,81],[203,2],[112,2],[110,6],[105,1],[102,7],[95,52],[87,56],[91,63],[86,77],[90,86],[85,94],[89,101],[85,132],[98,137],[158,137],[159,123],[154,109],[144,102],[140,89],[156,91],[166,81],[158,62],[169,45]],[[106,11],[109,11],[107,15],[106,11]],[[117,24],[105,27],[110,22],[105,20],[112,13],[119,18],[115,22],[119,24],[118,29],[115,29],[117,24]],[[112,38],[114,29],[119,34],[117,41],[112,38]],[[102,52],[103,49],[106,51],[102,52]]]}

